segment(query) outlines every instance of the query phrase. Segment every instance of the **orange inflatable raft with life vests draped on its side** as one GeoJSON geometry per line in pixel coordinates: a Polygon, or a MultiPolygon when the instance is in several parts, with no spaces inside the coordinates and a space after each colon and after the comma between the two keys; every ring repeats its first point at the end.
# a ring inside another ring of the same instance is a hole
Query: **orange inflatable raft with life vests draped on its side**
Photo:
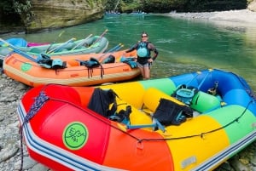
{"type": "Polygon", "coordinates": [[[135,56],[136,52],[125,53],[124,50],[121,50],[106,54],[74,54],[52,57],[44,55],[38,60],[38,57],[18,52],[9,54],[4,59],[3,71],[16,81],[32,87],[47,83],[90,86],[125,81],[139,76],[139,69],[130,63],[136,63],[132,61],[135,56]],[[106,62],[109,54],[114,57],[114,62],[106,62]],[[121,62],[121,58],[131,60],[121,62]],[[92,59],[93,61],[90,61],[92,59]],[[91,62],[95,63],[91,65],[91,62]]]}

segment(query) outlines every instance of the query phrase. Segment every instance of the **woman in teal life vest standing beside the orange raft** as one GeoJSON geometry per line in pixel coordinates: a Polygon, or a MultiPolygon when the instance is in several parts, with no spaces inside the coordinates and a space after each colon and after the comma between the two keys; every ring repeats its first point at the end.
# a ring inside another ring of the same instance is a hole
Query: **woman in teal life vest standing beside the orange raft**
{"type": "Polygon", "coordinates": [[[142,39],[138,43],[136,43],[133,47],[129,48],[125,52],[131,52],[137,49],[137,66],[142,72],[143,79],[150,78],[150,66],[152,62],[158,56],[158,51],[154,47],[153,43],[148,42],[148,33],[143,31],[142,39]],[[151,51],[154,52],[153,57],[151,57],[151,51]]]}

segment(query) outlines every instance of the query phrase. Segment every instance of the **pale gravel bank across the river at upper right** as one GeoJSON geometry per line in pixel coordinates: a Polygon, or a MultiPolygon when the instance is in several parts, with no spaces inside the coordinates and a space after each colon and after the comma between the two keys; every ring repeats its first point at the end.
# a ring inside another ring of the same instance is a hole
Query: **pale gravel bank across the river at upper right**
{"type": "Polygon", "coordinates": [[[248,9],[230,10],[221,12],[207,12],[207,13],[176,13],[171,12],[163,14],[174,18],[183,18],[189,20],[209,20],[215,23],[232,23],[236,26],[255,26],[256,27],[256,12],[248,9]]]}

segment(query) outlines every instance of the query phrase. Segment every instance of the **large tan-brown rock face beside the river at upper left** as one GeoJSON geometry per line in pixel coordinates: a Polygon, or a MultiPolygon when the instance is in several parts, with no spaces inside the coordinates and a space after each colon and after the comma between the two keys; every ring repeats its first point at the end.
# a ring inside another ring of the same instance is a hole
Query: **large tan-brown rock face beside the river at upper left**
{"type": "Polygon", "coordinates": [[[103,17],[101,0],[32,0],[32,20],[26,31],[75,26],[103,17]]]}

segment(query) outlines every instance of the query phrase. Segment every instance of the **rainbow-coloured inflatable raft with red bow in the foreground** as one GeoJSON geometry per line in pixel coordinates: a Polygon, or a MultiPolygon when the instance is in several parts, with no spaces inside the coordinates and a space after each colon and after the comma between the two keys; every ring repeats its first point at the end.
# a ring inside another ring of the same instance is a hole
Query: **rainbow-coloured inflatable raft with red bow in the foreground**
{"type": "Polygon", "coordinates": [[[101,87],[39,86],[18,114],[30,156],[54,170],[212,170],[256,139],[251,88],[216,69],[101,87]]]}

